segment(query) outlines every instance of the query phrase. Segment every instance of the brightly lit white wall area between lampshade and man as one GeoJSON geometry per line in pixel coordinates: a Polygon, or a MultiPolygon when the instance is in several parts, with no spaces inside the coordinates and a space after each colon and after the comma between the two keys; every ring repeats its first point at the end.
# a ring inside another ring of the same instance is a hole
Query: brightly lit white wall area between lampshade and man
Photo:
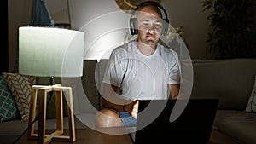
{"type": "Polygon", "coordinates": [[[112,49],[124,43],[129,14],[114,0],[70,0],[73,29],[85,34],[84,59],[108,59],[112,49]]]}

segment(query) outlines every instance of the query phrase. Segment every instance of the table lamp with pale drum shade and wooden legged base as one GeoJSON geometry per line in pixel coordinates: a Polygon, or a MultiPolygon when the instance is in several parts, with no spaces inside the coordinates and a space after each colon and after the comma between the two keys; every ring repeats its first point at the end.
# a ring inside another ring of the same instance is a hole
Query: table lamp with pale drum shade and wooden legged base
{"type": "Polygon", "coordinates": [[[29,124],[35,120],[38,99],[38,134],[34,124],[28,137],[38,143],[75,141],[71,87],[53,84],[53,78],[79,78],[84,66],[84,32],[55,27],[24,26],[19,28],[19,73],[50,78],[49,85],[32,85],[29,124]],[[47,94],[55,92],[56,130],[45,134],[47,94]],[[69,135],[63,134],[62,92],[66,92],[69,135]]]}

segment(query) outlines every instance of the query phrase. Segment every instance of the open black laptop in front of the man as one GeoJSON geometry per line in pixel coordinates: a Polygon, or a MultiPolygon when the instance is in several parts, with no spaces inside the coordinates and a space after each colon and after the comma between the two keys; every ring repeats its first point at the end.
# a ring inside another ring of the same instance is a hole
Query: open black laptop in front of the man
{"type": "Polygon", "coordinates": [[[131,139],[134,144],[207,144],[217,109],[218,99],[140,101],[131,139]]]}

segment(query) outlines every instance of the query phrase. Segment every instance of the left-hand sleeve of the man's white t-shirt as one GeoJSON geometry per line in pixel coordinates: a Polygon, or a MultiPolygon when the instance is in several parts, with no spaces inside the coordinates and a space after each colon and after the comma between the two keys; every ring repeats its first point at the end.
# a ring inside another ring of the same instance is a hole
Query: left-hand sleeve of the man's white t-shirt
{"type": "Polygon", "coordinates": [[[114,50],[109,57],[108,65],[103,78],[103,83],[120,87],[125,74],[124,52],[114,50]]]}

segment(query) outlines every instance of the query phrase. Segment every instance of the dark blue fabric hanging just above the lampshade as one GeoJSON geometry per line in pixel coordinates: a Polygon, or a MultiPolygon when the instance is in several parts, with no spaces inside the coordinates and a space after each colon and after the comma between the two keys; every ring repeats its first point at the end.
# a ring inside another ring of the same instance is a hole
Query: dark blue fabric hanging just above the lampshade
{"type": "Polygon", "coordinates": [[[54,26],[45,0],[33,0],[32,26],[54,26]]]}

